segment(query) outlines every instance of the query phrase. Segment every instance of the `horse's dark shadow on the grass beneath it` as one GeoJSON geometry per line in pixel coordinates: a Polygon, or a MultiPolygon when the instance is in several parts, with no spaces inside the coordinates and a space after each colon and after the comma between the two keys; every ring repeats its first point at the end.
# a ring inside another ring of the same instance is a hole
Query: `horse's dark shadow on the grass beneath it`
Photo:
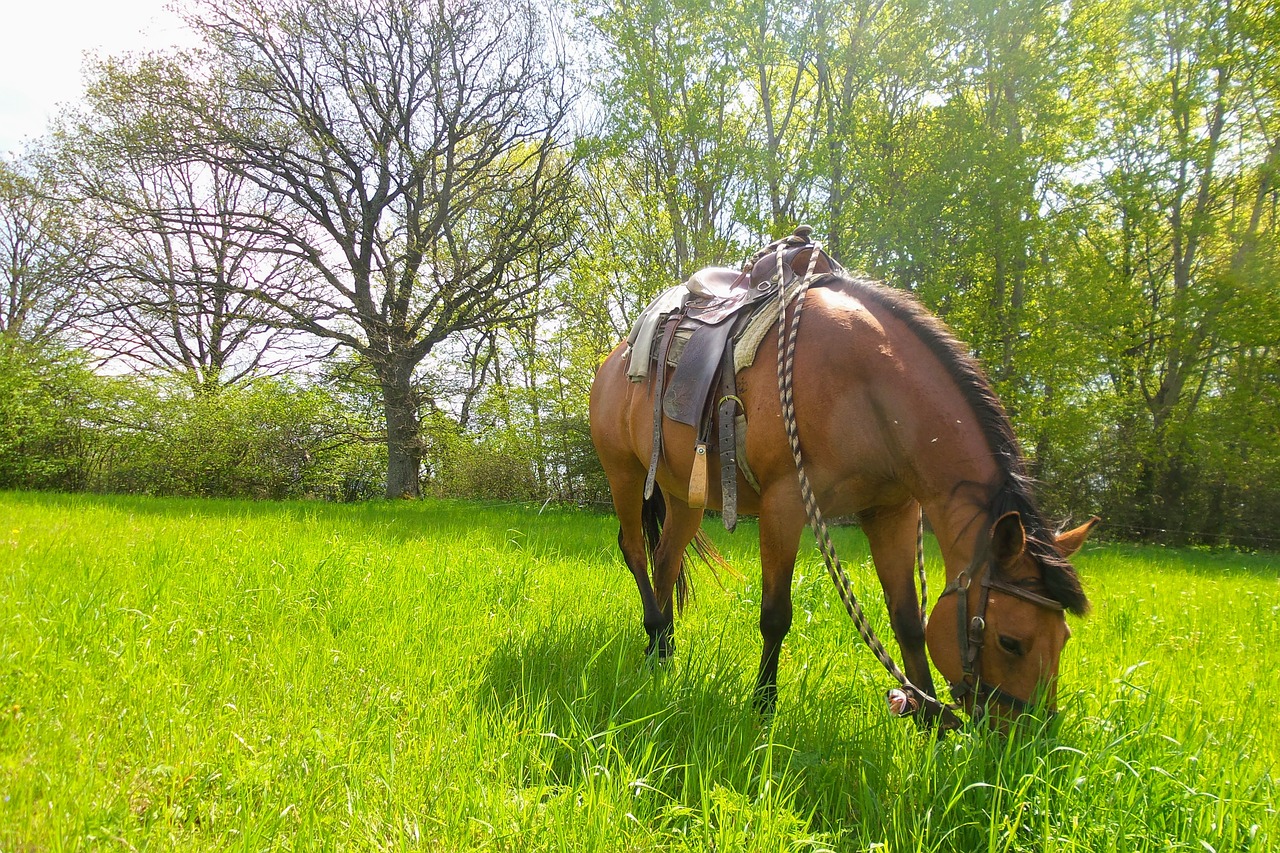
{"type": "MultiPolygon", "coordinates": [[[[1057,749],[1047,730],[1014,742],[966,730],[938,742],[891,719],[863,674],[850,680],[822,662],[782,685],[765,721],[751,703],[754,661],[741,663],[741,649],[705,631],[677,634],[676,657],[653,665],[637,625],[570,616],[512,633],[483,665],[477,715],[522,733],[522,766],[538,768],[538,784],[582,790],[598,774],[640,779],[705,821],[723,818],[705,809],[727,795],[751,804],[742,820],[786,812],[840,839],[835,849],[908,845],[931,812],[934,841],[924,849],[979,849],[1010,785],[1065,772],[1079,754],[1057,749]]],[[[1042,788],[1037,795],[1053,800],[1052,786],[1042,788]]]]}

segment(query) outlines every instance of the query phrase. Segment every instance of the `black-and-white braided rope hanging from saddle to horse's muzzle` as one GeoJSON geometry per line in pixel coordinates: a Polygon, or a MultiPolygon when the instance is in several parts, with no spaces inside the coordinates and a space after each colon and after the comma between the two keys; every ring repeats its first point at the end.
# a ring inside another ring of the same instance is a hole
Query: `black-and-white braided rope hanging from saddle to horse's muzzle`
{"type": "MultiPolygon", "coordinates": [[[[782,250],[783,246],[778,246],[777,250],[777,272],[778,282],[782,282],[782,250]]],[[[786,426],[787,441],[791,443],[791,455],[795,457],[796,462],[796,475],[800,479],[800,497],[804,500],[805,515],[809,517],[809,528],[813,530],[813,535],[818,539],[818,548],[822,551],[822,560],[827,565],[827,574],[831,576],[831,581],[836,585],[836,590],[840,593],[840,599],[845,603],[845,611],[849,617],[854,620],[854,626],[858,628],[858,634],[863,638],[867,648],[872,651],[881,665],[892,675],[897,683],[901,685],[902,690],[914,702],[914,707],[908,711],[908,713],[924,713],[928,717],[941,716],[943,717],[945,727],[959,726],[960,720],[951,712],[951,710],[943,706],[936,697],[929,695],[920,688],[911,684],[911,680],[906,678],[906,674],[899,669],[897,663],[890,656],[884,644],[881,643],[879,638],[876,637],[876,631],[872,630],[870,622],[867,621],[867,613],[863,612],[861,605],[858,603],[858,596],[854,594],[852,584],[849,581],[849,575],[845,574],[844,566],[840,565],[840,557],[836,555],[836,546],[831,542],[831,533],[827,529],[827,521],[822,517],[822,511],[818,508],[818,501],[813,496],[813,487],[809,484],[809,475],[804,469],[804,457],[800,453],[800,430],[796,425],[796,410],[795,400],[792,396],[792,377],[795,375],[795,350],[796,350],[796,336],[800,330],[800,311],[804,307],[804,297],[809,289],[809,279],[813,275],[814,264],[818,260],[818,254],[822,251],[822,243],[814,243],[813,252],[809,255],[809,268],[805,270],[804,277],[787,292],[787,287],[781,284],[778,287],[778,398],[782,402],[782,423],[786,426]],[[790,327],[787,324],[786,309],[787,305],[795,302],[795,311],[791,315],[790,327]]],[[[924,617],[924,517],[920,516],[920,521],[916,526],[916,544],[915,556],[916,566],[920,576],[922,585],[922,621],[924,617]]]]}

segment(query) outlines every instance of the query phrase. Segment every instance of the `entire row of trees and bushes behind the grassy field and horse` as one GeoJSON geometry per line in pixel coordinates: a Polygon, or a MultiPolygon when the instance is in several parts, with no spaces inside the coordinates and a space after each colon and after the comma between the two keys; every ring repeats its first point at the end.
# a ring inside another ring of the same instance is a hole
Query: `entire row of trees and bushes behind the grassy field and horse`
{"type": "Polygon", "coordinates": [[[237,0],[195,13],[204,54],[95,65],[79,129],[99,134],[77,143],[68,117],[46,169],[0,169],[0,242],[28,259],[4,270],[0,320],[28,339],[95,327],[99,351],[170,368],[177,346],[192,391],[23,362],[0,379],[24,389],[0,402],[5,482],[349,497],[380,435],[392,494],[426,471],[438,494],[596,501],[585,419],[604,355],[659,289],[808,222],[966,342],[1055,514],[1280,544],[1274,3],[581,0],[567,53],[591,72],[594,133],[570,127],[572,63],[540,47],[535,6],[237,0]],[[424,78],[495,111],[415,100],[424,78]],[[236,213],[216,223],[214,184],[236,213]],[[54,197],[68,186],[99,202],[54,197]],[[90,206],[138,247],[207,243],[195,266],[154,252],[159,277],[115,264],[173,295],[142,310],[114,282],[133,328],[100,295],[81,310],[84,274],[132,254],[67,227],[90,206]],[[204,301],[219,289],[237,298],[204,301]],[[200,334],[180,334],[174,311],[196,305],[200,334]],[[216,355],[237,328],[237,371],[285,364],[250,316],[358,364],[328,402],[195,393],[237,375],[216,355]]]}

